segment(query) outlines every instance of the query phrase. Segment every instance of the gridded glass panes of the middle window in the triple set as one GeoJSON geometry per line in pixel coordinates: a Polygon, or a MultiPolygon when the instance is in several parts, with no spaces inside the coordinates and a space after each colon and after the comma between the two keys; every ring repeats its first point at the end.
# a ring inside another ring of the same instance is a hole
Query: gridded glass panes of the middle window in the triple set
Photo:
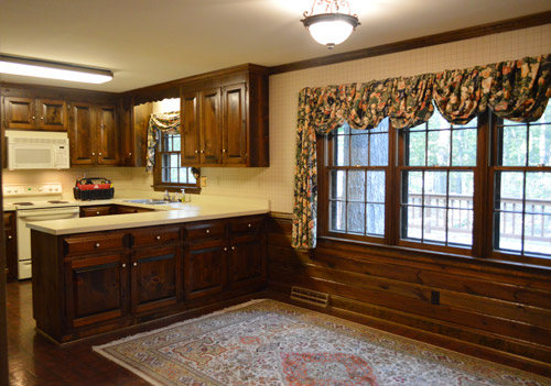
{"type": "Polygon", "coordinates": [[[401,239],[473,245],[477,130],[477,119],[454,125],[437,112],[403,130],[401,239]]]}

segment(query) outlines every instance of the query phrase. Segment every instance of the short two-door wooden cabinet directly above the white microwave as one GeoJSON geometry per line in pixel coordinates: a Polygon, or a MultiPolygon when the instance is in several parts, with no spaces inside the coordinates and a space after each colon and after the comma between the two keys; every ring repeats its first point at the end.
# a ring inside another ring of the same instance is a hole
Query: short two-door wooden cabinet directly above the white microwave
{"type": "Polygon", "coordinates": [[[32,97],[4,97],[4,128],[26,130],[67,130],[64,100],[32,97]]]}

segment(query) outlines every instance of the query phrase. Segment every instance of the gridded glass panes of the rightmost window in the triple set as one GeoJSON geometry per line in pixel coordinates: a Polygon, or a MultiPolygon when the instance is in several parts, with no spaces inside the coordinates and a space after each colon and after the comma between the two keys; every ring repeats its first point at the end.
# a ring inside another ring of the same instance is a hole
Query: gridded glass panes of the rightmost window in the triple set
{"type": "Polygon", "coordinates": [[[551,103],[533,123],[497,125],[494,249],[551,257],[551,103]]]}

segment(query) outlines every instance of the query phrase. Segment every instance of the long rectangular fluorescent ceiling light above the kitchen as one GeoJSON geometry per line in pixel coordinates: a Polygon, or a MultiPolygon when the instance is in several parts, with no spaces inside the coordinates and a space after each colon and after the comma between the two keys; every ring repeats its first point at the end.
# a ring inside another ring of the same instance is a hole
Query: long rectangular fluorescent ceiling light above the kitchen
{"type": "Polygon", "coordinates": [[[107,69],[7,55],[0,55],[0,73],[87,84],[105,84],[112,79],[112,73],[107,69]]]}

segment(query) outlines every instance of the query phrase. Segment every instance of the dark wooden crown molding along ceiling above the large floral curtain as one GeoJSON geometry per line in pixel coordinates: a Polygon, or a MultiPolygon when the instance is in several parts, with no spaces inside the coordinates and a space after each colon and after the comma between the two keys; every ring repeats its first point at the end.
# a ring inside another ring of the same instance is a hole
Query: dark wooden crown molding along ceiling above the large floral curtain
{"type": "Polygon", "coordinates": [[[270,75],[295,71],[313,67],[327,66],[337,63],[364,59],[367,57],[388,55],[409,49],[422,48],[437,44],[452,43],[473,37],[491,35],[495,33],[527,29],[530,26],[549,24],[551,11],[529,14],[526,16],[503,20],[498,22],[469,26],[466,29],[443,32],[434,35],[414,37],[407,41],[382,44],[375,47],[350,51],[347,53],[316,57],[313,59],[288,63],[270,67],[270,75]]]}

